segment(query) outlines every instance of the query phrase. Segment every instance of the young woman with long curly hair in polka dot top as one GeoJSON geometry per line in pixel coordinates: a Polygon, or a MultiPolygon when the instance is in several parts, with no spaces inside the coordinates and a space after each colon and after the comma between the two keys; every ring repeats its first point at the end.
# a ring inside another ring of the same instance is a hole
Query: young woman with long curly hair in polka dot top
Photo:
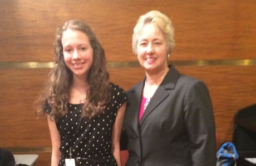
{"type": "Polygon", "coordinates": [[[69,20],[58,30],[55,66],[40,101],[52,166],[121,165],[126,93],[109,82],[104,49],[86,23],[69,20]]]}

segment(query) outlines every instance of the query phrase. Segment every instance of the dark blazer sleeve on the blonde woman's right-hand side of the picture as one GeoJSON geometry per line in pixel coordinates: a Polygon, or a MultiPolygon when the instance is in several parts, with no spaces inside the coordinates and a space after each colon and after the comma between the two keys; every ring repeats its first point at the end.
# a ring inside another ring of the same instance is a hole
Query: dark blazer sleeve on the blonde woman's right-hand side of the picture
{"type": "Polygon", "coordinates": [[[184,100],[184,115],[193,165],[216,165],[214,113],[204,82],[197,80],[190,84],[184,100]]]}

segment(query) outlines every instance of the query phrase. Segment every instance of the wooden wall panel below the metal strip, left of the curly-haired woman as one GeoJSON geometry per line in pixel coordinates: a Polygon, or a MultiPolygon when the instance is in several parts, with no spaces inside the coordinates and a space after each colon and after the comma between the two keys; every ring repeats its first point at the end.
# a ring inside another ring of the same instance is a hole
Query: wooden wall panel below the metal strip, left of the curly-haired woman
{"type": "Polygon", "coordinates": [[[0,147],[49,147],[46,118],[37,119],[35,101],[48,69],[0,70],[0,147]]]}

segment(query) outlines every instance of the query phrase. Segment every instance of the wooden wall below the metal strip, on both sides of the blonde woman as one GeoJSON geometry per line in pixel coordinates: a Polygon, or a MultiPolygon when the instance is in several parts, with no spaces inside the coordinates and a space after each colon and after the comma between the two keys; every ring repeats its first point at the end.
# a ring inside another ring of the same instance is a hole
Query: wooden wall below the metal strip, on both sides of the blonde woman
{"type": "MultiPolygon", "coordinates": [[[[232,140],[234,115],[256,102],[256,66],[176,66],[182,73],[203,80],[213,102],[220,142],[232,140]]],[[[141,68],[111,69],[111,80],[129,89],[144,77],[141,68]]]]}

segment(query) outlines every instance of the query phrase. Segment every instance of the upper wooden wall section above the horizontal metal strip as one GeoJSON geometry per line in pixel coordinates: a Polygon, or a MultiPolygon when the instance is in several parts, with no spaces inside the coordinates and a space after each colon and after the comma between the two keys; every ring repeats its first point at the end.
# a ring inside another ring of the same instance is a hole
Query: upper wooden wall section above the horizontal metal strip
{"type": "Polygon", "coordinates": [[[136,60],[132,28],[139,15],[151,9],[173,20],[175,60],[255,58],[254,0],[2,0],[0,4],[0,61],[52,61],[56,28],[72,18],[86,20],[95,29],[108,61],[136,60]]]}

